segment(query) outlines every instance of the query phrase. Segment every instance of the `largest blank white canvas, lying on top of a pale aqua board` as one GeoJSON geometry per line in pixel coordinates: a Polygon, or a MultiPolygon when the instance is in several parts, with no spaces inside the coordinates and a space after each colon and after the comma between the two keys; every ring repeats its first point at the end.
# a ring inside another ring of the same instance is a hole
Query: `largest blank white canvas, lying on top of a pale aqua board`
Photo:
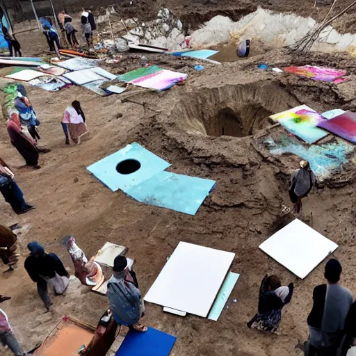
{"type": "Polygon", "coordinates": [[[234,257],[232,252],[181,241],[145,301],[206,317],[234,257]]]}

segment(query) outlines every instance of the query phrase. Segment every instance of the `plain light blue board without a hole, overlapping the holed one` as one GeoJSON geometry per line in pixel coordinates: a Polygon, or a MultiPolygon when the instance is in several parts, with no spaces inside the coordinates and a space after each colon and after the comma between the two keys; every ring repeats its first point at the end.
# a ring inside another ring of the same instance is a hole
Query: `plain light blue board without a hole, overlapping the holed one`
{"type": "Polygon", "coordinates": [[[195,215],[214,184],[209,179],[159,172],[126,193],[145,204],[195,215]]]}

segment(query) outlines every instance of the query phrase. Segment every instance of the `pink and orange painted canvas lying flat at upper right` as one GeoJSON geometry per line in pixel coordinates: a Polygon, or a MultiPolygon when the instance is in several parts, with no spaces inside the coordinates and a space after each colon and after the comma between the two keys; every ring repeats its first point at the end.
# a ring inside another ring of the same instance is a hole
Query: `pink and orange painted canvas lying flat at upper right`
{"type": "Polygon", "coordinates": [[[316,81],[334,81],[335,83],[341,83],[342,81],[344,81],[345,79],[341,78],[341,76],[344,76],[346,74],[346,70],[317,67],[316,65],[285,67],[284,72],[297,74],[309,79],[315,79],[316,81]]]}

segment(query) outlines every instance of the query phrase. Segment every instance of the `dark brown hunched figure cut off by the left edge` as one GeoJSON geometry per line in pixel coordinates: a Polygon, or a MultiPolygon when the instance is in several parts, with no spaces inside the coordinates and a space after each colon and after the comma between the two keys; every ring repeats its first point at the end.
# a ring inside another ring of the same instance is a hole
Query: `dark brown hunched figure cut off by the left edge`
{"type": "Polygon", "coordinates": [[[0,258],[3,264],[14,270],[19,262],[17,236],[8,228],[0,225],[0,258]]]}

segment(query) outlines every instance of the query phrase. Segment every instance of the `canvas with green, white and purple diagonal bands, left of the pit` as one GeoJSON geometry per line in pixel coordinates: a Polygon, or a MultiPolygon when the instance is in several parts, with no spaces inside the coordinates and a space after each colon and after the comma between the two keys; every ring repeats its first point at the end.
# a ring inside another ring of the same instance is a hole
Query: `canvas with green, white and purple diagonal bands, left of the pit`
{"type": "Polygon", "coordinates": [[[122,74],[119,79],[143,88],[165,90],[174,86],[178,81],[184,81],[187,77],[188,74],[163,70],[152,65],[122,74]]]}

